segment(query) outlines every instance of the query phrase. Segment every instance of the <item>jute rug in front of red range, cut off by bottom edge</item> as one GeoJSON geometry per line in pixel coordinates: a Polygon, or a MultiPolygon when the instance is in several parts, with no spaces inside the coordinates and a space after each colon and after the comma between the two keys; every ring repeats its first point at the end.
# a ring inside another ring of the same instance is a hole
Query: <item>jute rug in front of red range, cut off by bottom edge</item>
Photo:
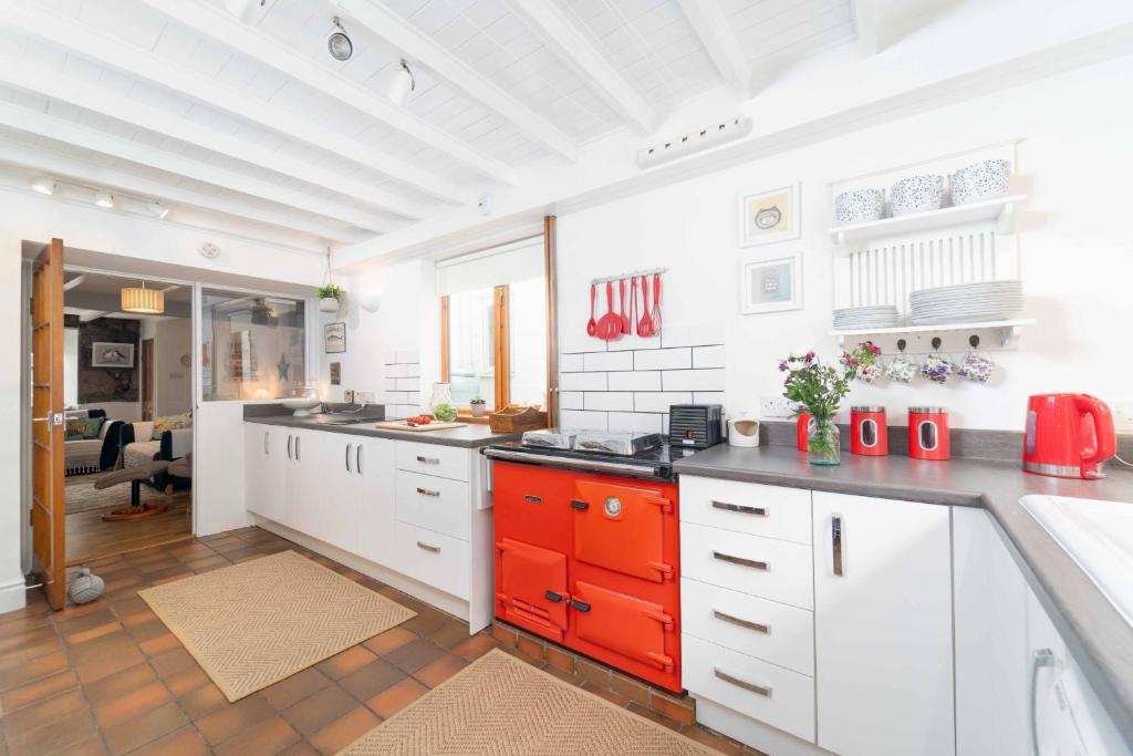
{"type": "Polygon", "coordinates": [[[338,756],[705,756],[716,751],[493,649],[338,756]]]}

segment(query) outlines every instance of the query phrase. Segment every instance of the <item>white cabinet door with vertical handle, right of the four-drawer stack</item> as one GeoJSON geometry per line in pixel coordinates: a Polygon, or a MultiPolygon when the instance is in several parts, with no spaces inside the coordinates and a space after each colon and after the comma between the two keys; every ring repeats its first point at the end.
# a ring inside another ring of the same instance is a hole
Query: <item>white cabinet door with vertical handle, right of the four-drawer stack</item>
{"type": "Polygon", "coordinates": [[[813,493],[818,745],[955,754],[949,508],[813,493]]]}

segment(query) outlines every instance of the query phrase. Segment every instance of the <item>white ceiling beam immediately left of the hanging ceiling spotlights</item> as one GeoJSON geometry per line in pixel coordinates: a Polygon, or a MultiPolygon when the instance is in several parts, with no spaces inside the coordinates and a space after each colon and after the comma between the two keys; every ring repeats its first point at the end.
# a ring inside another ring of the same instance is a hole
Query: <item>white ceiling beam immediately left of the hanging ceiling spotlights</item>
{"type": "Polygon", "coordinates": [[[366,87],[316,63],[259,29],[240,23],[220,6],[204,5],[198,0],[142,1],[180,24],[222,42],[233,50],[239,50],[241,54],[274,68],[344,105],[445,153],[482,176],[508,185],[514,185],[518,181],[516,171],[511,167],[486,155],[467,142],[409,111],[398,108],[366,87]]]}

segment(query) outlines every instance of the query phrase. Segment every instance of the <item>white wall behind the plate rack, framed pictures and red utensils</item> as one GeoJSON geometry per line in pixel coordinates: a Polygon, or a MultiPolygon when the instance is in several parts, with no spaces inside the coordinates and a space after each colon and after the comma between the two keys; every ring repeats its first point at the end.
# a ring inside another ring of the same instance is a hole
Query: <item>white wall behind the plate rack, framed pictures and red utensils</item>
{"type": "Polygon", "coordinates": [[[1133,59],[1123,58],[561,215],[561,347],[602,349],[583,328],[590,278],[668,266],[665,326],[723,323],[726,407],[733,415],[752,411],[760,394],[781,392],[781,356],[836,350],[826,335],[834,254],[826,233],[833,226],[829,184],[1022,137],[1016,170],[1030,194],[1020,223],[1025,314],[1039,325],[1023,333],[1016,351],[995,352],[1000,372],[991,385],[858,384],[844,405],[884,404],[891,422],[901,424],[909,405],[943,404],[955,426],[1021,430],[1031,393],[1131,397],[1133,350],[1125,331],[1133,323],[1133,235],[1123,188],[1133,164],[1133,103],[1123,95],[1130,91],[1133,59]],[[738,247],[738,196],[793,181],[802,181],[802,239],[738,247]],[[803,250],[804,308],[740,315],[741,261],[794,248],[803,250]]]}

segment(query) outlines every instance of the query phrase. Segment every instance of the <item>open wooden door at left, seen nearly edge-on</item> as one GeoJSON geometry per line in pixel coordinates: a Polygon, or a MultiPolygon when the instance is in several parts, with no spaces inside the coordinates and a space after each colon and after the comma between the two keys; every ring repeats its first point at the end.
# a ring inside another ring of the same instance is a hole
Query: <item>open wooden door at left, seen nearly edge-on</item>
{"type": "Polygon", "coordinates": [[[63,503],[63,243],[32,274],[32,549],[52,609],[67,603],[63,503]]]}

